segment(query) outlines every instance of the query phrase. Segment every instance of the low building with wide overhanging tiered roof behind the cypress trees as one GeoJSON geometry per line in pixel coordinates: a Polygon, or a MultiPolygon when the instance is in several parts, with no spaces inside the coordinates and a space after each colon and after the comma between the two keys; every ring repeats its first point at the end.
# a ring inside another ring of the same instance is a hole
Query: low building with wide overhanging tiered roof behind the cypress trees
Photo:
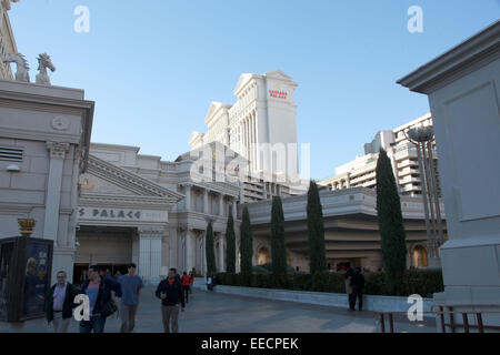
{"type": "MultiPolygon", "coordinates": [[[[359,266],[370,271],[383,267],[380,231],[377,221],[377,195],[371,189],[319,193],[324,219],[324,247],[328,268],[359,266]]],[[[306,194],[282,199],[287,263],[299,271],[309,271],[309,239],[306,194]]],[[[272,201],[247,204],[252,222],[252,263],[270,262],[272,201]]],[[[407,267],[429,266],[429,243],[421,197],[401,196],[406,230],[407,267]]],[[[444,217],[444,215],[443,215],[444,217]]],[[[446,233],[446,231],[444,231],[446,233]]]]}

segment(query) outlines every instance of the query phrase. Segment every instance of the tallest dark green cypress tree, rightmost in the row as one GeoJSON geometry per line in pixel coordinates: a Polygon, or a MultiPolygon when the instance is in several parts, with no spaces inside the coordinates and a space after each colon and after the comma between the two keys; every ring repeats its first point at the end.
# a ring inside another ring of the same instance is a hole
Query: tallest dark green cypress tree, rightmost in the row
{"type": "Polygon", "coordinates": [[[399,294],[407,268],[406,232],[391,161],[383,149],[377,162],[377,215],[387,283],[393,294],[399,294]]]}

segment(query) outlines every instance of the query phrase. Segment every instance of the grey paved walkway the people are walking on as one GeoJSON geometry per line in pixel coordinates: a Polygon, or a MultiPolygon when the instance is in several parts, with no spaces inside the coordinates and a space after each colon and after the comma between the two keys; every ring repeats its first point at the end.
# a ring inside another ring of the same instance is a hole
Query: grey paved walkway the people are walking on
{"type": "MultiPolygon", "coordinates": [[[[327,306],[292,302],[242,297],[194,290],[194,297],[179,316],[179,332],[182,333],[377,333],[372,312],[349,312],[327,306]]],[[[118,333],[120,320],[113,315],[106,323],[107,333],[118,333]]],[[[160,300],[154,288],[142,292],[136,333],[162,332],[160,300]]],[[[396,332],[436,333],[436,322],[410,323],[399,318],[396,332]]],[[[28,321],[22,328],[13,328],[0,322],[0,333],[26,332],[47,333],[52,327],[44,320],[28,321]]],[[[78,333],[78,323],[71,321],[71,333],[78,333]]]]}

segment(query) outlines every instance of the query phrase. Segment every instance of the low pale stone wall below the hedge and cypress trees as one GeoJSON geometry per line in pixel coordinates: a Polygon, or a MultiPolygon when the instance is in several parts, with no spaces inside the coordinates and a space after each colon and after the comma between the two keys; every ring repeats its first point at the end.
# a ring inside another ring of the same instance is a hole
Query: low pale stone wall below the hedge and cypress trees
{"type": "MultiPolygon", "coordinates": [[[[194,288],[207,290],[204,278],[197,278],[194,281],[194,288]]],[[[224,285],[217,285],[214,292],[266,300],[318,304],[346,310],[349,308],[348,296],[347,294],[342,293],[239,287],[224,285]]],[[[430,312],[433,300],[422,298],[422,301],[423,312],[430,312]]],[[[363,310],[366,311],[408,312],[410,306],[411,304],[408,303],[408,297],[363,295],[363,310]]],[[[433,315],[429,313],[424,313],[424,316],[433,317],[433,315]]]]}

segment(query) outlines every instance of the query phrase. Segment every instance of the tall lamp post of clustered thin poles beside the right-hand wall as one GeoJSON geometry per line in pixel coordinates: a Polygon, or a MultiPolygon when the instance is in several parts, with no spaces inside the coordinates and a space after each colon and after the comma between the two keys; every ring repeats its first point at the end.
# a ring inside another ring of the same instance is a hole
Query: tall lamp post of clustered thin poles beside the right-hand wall
{"type": "Polygon", "coordinates": [[[439,246],[444,242],[444,239],[432,152],[434,132],[432,126],[419,126],[408,130],[408,132],[404,132],[404,135],[417,146],[423,212],[426,214],[426,231],[430,252],[429,266],[440,267],[439,246]]]}

